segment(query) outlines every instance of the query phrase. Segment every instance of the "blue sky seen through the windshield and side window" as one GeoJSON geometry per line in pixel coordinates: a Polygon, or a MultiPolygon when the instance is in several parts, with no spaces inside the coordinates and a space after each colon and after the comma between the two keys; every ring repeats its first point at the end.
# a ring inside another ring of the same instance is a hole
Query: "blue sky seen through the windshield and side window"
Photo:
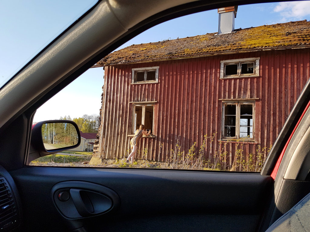
{"type": "MultiPolygon", "coordinates": [[[[94,0],[0,1],[0,86],[87,10],[94,0]]],[[[310,1],[238,6],[235,28],[310,19],[310,1]]],[[[118,49],[218,31],[217,10],[172,19],[141,33],[118,49]]],[[[117,50],[118,50],[117,49],[117,50]]],[[[36,112],[34,122],[70,115],[99,114],[104,84],[102,68],[84,72],[36,112]],[[64,101],[66,99],[66,101],[64,101]],[[68,102],[70,105],[68,106],[68,102]]],[[[1,96],[0,96],[1,97],[1,96]]]]}

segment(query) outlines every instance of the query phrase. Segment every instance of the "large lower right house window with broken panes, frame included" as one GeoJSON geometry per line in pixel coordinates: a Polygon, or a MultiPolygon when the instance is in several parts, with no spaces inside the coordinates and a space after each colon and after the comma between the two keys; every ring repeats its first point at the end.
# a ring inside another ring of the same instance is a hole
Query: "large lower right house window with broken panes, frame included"
{"type": "Polygon", "coordinates": [[[223,102],[222,138],[254,140],[254,102],[223,102]]]}

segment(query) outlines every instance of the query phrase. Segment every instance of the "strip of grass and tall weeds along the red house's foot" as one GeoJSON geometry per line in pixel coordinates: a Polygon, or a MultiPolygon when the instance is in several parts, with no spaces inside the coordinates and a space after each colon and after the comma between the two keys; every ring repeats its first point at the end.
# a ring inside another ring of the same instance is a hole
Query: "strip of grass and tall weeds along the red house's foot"
{"type": "MultiPolygon", "coordinates": [[[[255,154],[244,154],[243,145],[245,139],[237,140],[237,145],[234,154],[228,154],[222,147],[222,141],[219,141],[219,148],[212,153],[212,145],[216,138],[216,133],[211,136],[204,135],[204,140],[199,148],[196,149],[196,143],[193,143],[188,152],[181,151],[179,138],[175,148],[171,150],[170,159],[168,162],[151,161],[151,160],[135,160],[134,164],[127,164],[126,158],[122,159],[104,159],[99,165],[89,165],[91,156],[64,156],[50,155],[41,157],[30,163],[35,166],[74,166],[74,167],[108,167],[108,168],[162,168],[162,169],[186,169],[186,170],[229,170],[229,171],[246,171],[259,172],[261,171],[270,148],[261,148],[258,146],[255,154]],[[209,153],[206,154],[207,143],[209,144],[209,153]],[[224,163],[225,159],[232,155],[234,157],[231,167],[227,168],[224,163]],[[205,158],[208,159],[205,159],[205,158]]],[[[161,149],[160,149],[161,150],[161,149]]],[[[144,155],[148,153],[144,150],[144,155]]],[[[160,153],[158,155],[160,157],[160,153]]],[[[142,158],[145,158],[144,156],[142,158]]]]}

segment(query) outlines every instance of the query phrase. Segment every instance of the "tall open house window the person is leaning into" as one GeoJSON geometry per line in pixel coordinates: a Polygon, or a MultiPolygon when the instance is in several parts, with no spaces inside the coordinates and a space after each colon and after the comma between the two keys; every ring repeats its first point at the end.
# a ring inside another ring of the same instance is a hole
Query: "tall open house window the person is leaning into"
{"type": "Polygon", "coordinates": [[[151,131],[151,134],[154,134],[154,105],[136,105],[133,107],[133,117],[132,117],[132,132],[135,133],[137,129],[139,129],[140,125],[143,124],[145,126],[145,130],[151,131]]]}

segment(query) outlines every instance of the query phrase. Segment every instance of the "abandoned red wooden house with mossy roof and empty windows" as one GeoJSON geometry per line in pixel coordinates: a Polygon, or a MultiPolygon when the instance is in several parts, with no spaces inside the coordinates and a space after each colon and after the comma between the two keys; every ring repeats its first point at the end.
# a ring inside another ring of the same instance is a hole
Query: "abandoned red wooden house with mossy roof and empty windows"
{"type": "Polygon", "coordinates": [[[309,52],[307,21],[237,30],[232,24],[229,33],[115,51],[95,65],[105,77],[93,156],[126,157],[142,123],[152,133],[136,158],[169,161],[176,144],[185,156],[205,143],[204,159],[222,169],[232,167],[240,148],[244,162],[249,154],[255,162],[268,154],[309,79],[309,52]]]}

